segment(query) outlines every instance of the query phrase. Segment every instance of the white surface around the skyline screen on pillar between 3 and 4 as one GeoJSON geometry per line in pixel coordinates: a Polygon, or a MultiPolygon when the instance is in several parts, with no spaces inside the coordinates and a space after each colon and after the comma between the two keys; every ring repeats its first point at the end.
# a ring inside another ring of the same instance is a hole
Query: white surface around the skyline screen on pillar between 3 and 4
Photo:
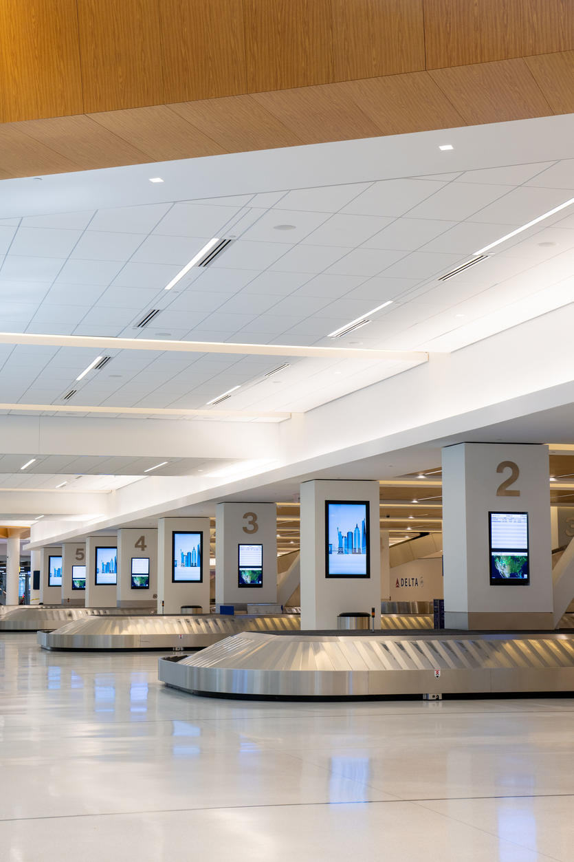
{"type": "Polygon", "coordinates": [[[158,522],[158,613],[178,614],[184,605],[196,604],[209,614],[209,518],[160,518],[158,522]],[[196,530],[203,533],[201,584],[172,582],[172,534],[196,530]]]}

